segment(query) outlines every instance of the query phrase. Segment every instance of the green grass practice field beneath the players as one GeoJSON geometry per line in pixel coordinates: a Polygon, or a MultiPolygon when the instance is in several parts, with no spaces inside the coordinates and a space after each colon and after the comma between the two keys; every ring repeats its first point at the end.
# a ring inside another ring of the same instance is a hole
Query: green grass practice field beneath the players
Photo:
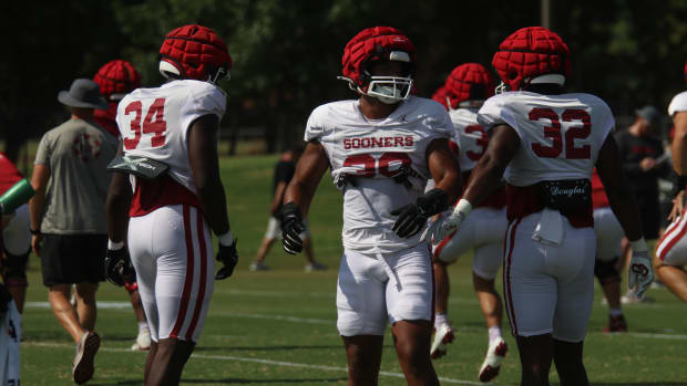
{"type": "MultiPolygon", "coordinates": [[[[275,156],[223,159],[233,232],[240,261],[234,277],[217,282],[213,302],[194,356],[186,365],[184,385],[346,385],[346,357],[336,330],[336,278],[341,254],[341,197],[327,175],[310,210],[317,259],[325,272],[305,273],[305,259],[275,244],[267,272],[250,272],[267,226],[275,156]]],[[[442,384],[475,385],[486,347],[486,331],[472,292],[471,259],[450,269],[450,317],[458,330],[449,354],[434,362],[442,384]]],[[[23,385],[71,385],[74,346],[47,306],[40,264],[31,258],[28,305],[22,343],[23,385]]],[[[499,285],[500,286],[500,285],[499,285]]],[[[665,289],[649,290],[655,303],[625,307],[630,332],[605,335],[607,310],[597,291],[585,363],[594,385],[687,385],[687,306],[665,289]]],[[[103,283],[96,331],[103,343],[90,385],[142,385],[145,354],[129,347],[136,324],[124,290],[103,283]]],[[[517,385],[520,365],[515,344],[504,325],[511,352],[495,385],[517,385]]],[[[404,380],[389,335],[384,338],[380,385],[404,380]]],[[[552,384],[557,384],[552,369],[552,384]]]]}

